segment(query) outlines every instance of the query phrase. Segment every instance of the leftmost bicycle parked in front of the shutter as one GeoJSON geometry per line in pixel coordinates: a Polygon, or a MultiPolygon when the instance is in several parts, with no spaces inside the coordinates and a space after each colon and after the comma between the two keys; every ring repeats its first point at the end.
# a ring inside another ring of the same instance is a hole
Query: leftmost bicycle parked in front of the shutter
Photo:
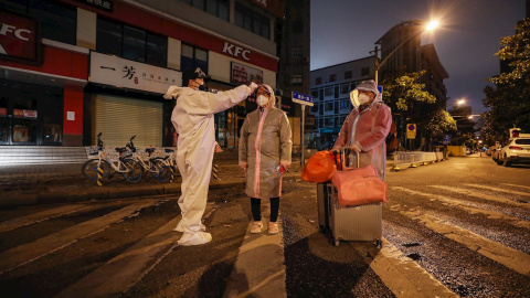
{"type": "MultiPolygon", "coordinates": [[[[142,168],[131,157],[123,153],[127,151],[127,148],[116,148],[116,152],[119,153],[118,160],[113,161],[103,150],[102,132],[97,134],[97,151],[91,152],[91,156],[96,156],[87,160],[82,168],[83,175],[91,180],[97,180],[98,185],[102,185],[100,180],[110,177],[110,169],[124,175],[129,181],[137,183],[141,179],[142,168]]],[[[114,173],[113,173],[114,175],[114,173]]]]}

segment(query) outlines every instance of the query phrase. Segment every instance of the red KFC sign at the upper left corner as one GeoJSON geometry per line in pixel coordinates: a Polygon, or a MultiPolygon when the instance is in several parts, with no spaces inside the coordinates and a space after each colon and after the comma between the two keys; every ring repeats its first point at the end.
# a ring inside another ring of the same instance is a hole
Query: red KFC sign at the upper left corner
{"type": "Polygon", "coordinates": [[[38,20],[0,10],[0,57],[38,62],[38,20]]]}

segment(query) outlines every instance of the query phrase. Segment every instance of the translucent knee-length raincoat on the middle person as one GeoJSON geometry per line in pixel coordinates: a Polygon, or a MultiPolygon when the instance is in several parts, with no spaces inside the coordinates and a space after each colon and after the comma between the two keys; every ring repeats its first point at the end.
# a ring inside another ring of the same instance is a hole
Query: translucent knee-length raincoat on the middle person
{"type": "Polygon", "coordinates": [[[282,196],[280,163],[290,164],[290,126],[278,108],[259,108],[241,127],[240,164],[246,163],[246,194],[251,198],[282,196]]]}

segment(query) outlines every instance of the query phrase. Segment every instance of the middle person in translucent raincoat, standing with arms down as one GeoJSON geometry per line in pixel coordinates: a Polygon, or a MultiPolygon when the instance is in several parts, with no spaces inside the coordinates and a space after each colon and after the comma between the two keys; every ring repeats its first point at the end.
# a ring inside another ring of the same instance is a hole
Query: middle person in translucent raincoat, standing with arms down
{"type": "Polygon", "coordinates": [[[278,233],[282,177],[290,166],[290,125],[285,111],[274,107],[275,100],[273,88],[261,85],[256,89],[258,108],[246,116],[240,134],[240,167],[246,173],[253,234],[263,228],[261,200],[271,201],[268,233],[278,233]]]}

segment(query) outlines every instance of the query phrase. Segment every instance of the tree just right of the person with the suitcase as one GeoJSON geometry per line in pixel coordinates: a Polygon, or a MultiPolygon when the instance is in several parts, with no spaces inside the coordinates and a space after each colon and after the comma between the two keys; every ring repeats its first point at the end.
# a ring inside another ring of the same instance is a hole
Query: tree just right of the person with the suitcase
{"type": "MultiPolygon", "coordinates": [[[[443,108],[436,97],[425,91],[425,84],[417,83],[425,72],[404,74],[383,82],[383,98],[400,121],[417,124],[420,136],[431,140],[446,131],[456,130],[456,121],[443,108]]],[[[403,125],[403,123],[402,123],[403,125]]],[[[399,129],[399,136],[402,129],[399,129]]]]}

